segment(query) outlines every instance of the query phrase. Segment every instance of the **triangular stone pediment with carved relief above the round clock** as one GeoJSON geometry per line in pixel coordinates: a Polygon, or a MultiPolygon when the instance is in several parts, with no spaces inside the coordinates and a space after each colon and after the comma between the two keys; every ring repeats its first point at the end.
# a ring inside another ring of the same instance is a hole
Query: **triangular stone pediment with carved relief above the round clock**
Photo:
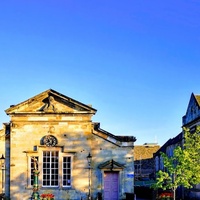
{"type": "Polygon", "coordinates": [[[55,90],[46,90],[22,103],[13,105],[5,112],[9,114],[20,113],[88,113],[95,114],[96,109],[76,101],[55,90]]]}

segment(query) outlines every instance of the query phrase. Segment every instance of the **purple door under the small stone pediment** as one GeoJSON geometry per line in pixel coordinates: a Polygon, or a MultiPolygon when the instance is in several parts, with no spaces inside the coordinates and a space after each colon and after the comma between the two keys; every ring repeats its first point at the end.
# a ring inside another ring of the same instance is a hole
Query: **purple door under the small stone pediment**
{"type": "Polygon", "coordinates": [[[118,200],[119,173],[104,172],[104,200],[118,200]]]}

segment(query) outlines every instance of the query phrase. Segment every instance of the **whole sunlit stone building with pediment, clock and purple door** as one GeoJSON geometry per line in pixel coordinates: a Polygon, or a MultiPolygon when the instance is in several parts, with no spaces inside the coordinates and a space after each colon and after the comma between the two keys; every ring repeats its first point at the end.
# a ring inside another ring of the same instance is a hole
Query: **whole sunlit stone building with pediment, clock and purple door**
{"type": "Polygon", "coordinates": [[[5,112],[10,117],[0,130],[5,196],[31,198],[34,164],[39,194],[52,193],[56,200],[120,200],[134,192],[136,139],[101,129],[92,121],[97,112],[92,106],[49,89],[5,112]]]}

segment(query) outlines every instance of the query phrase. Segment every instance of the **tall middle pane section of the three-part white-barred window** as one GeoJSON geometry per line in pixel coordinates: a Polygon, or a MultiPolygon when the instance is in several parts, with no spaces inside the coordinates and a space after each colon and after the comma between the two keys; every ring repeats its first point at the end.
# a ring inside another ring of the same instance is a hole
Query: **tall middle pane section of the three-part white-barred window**
{"type": "Polygon", "coordinates": [[[43,152],[43,186],[58,186],[58,151],[43,152]]]}

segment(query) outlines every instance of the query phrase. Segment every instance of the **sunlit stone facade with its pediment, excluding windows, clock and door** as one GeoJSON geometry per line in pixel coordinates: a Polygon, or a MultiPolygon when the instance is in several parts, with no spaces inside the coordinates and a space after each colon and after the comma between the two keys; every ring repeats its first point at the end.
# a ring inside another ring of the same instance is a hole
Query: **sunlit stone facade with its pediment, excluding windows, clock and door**
{"type": "Polygon", "coordinates": [[[6,140],[0,140],[0,148],[6,147],[7,155],[6,196],[12,200],[27,200],[31,197],[31,157],[36,156],[39,157],[40,194],[53,193],[56,200],[87,199],[89,153],[92,155],[91,194],[94,199],[98,193],[103,195],[104,171],[119,172],[119,199],[123,199],[126,192],[134,192],[134,140],[129,141],[127,137],[126,142],[123,142],[123,137],[106,131],[98,132],[91,120],[95,112],[90,106],[52,90],[7,109],[10,130],[6,140]],[[45,145],[43,139],[46,135],[53,135],[57,144],[45,145]],[[59,151],[58,187],[42,186],[42,158],[46,150],[59,151]],[[70,187],[61,184],[62,156],[70,156],[72,159],[70,187]],[[112,168],[99,167],[111,160],[114,163],[112,168]]]}

